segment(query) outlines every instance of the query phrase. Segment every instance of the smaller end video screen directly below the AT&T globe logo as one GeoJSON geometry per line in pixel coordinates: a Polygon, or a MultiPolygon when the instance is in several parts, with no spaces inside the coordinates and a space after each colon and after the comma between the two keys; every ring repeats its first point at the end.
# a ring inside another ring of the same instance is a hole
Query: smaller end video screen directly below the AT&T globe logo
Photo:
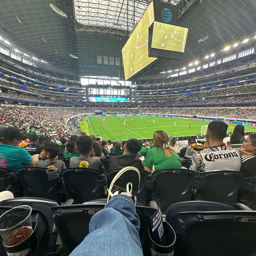
{"type": "Polygon", "coordinates": [[[154,22],[151,48],[184,53],[187,31],[186,27],[154,22]]]}

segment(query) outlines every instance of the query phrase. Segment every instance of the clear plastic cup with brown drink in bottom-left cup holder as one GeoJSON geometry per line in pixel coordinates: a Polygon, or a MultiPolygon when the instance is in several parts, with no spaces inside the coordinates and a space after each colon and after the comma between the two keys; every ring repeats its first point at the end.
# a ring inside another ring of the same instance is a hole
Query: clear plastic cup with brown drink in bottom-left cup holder
{"type": "Polygon", "coordinates": [[[0,235],[7,246],[18,245],[32,234],[32,208],[17,206],[0,216],[0,235]]]}

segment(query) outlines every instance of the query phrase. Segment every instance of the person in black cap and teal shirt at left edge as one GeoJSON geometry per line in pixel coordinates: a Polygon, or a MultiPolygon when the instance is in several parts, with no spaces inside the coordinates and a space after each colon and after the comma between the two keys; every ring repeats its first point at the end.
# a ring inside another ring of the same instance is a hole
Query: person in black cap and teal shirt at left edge
{"type": "Polygon", "coordinates": [[[31,156],[19,143],[27,139],[16,127],[8,127],[0,131],[0,167],[17,171],[17,168],[33,166],[38,161],[38,155],[31,156]]]}

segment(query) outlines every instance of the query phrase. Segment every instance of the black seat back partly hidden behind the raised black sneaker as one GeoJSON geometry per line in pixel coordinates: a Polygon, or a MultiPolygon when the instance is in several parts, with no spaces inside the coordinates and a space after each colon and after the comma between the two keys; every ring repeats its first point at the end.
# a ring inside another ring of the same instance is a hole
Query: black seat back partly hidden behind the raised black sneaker
{"type": "MultiPolygon", "coordinates": [[[[122,168],[111,169],[107,172],[107,187],[109,188],[113,178],[122,168]]],[[[137,202],[141,203],[144,206],[147,206],[149,203],[149,191],[146,189],[145,186],[145,177],[149,176],[149,173],[145,170],[139,169],[139,173],[141,175],[141,181],[139,184],[139,191],[137,194],[137,202]]]]}

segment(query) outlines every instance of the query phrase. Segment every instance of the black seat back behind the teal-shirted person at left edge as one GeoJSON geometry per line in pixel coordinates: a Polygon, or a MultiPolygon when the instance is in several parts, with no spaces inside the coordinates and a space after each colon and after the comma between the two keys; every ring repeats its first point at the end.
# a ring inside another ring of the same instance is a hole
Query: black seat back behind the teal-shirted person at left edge
{"type": "Polygon", "coordinates": [[[11,191],[15,197],[23,195],[22,183],[14,170],[0,168],[0,192],[11,191]]]}

